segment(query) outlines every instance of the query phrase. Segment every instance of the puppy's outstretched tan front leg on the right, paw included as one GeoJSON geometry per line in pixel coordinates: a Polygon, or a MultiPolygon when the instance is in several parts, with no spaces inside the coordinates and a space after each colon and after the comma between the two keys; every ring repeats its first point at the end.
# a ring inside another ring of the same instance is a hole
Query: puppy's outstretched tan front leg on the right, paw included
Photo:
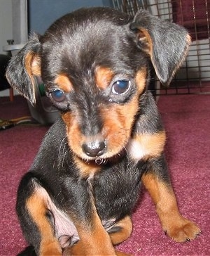
{"type": "Polygon", "coordinates": [[[198,226],[181,216],[167,174],[165,158],[150,160],[142,181],[155,203],[162,229],[177,242],[190,241],[200,234],[198,226]]]}

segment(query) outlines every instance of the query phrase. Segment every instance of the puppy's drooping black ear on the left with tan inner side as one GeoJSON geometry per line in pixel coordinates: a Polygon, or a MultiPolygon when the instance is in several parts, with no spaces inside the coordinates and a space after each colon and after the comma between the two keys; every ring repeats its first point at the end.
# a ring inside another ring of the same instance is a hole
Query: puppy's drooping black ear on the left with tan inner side
{"type": "Polygon", "coordinates": [[[36,103],[34,76],[41,77],[40,49],[38,34],[32,34],[27,44],[11,58],[6,70],[6,78],[11,87],[17,89],[31,104],[36,103]]]}

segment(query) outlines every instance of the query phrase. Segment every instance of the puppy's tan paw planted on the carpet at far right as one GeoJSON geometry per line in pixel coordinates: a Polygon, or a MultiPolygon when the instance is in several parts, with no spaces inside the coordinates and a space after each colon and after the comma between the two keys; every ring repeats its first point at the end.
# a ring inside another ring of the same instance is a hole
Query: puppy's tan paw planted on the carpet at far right
{"type": "Polygon", "coordinates": [[[172,225],[168,226],[165,229],[165,233],[176,242],[186,242],[200,236],[201,230],[194,222],[181,217],[172,225]]]}

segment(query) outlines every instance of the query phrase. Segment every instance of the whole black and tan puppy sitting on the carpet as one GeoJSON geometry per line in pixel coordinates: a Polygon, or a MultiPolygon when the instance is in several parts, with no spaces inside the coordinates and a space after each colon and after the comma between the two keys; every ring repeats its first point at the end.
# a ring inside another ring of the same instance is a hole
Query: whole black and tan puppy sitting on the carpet
{"type": "Polygon", "coordinates": [[[80,9],[34,34],[7,78],[35,103],[34,76],[61,111],[18,189],[22,231],[36,255],[126,255],[143,183],[175,241],[200,229],[179,213],[163,154],[165,131],[147,90],[151,63],[168,84],[186,55],[183,27],[146,11],[80,9]]]}

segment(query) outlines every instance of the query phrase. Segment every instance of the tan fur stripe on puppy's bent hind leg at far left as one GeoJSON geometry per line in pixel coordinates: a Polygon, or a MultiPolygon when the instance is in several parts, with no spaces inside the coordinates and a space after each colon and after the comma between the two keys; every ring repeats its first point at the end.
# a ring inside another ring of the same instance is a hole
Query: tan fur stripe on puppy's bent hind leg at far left
{"type": "Polygon", "coordinates": [[[62,249],[46,217],[47,207],[43,196],[38,192],[34,192],[27,200],[27,209],[36,223],[41,236],[39,256],[61,256],[62,249]]]}

